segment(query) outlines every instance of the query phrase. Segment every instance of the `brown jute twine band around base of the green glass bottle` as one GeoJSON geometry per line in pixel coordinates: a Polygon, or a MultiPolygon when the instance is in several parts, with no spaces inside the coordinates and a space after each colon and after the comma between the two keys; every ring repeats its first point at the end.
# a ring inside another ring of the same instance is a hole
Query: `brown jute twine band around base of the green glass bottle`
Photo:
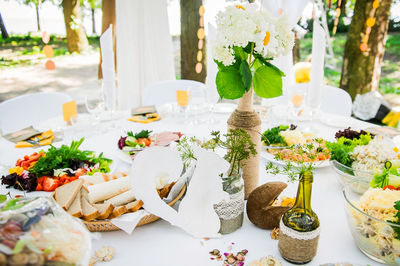
{"type": "MultiPolygon", "coordinates": [[[[299,235],[300,238],[301,234],[309,233],[310,232],[301,233],[296,231],[296,235],[299,235]]],[[[304,264],[311,261],[317,254],[318,240],[319,232],[314,238],[309,239],[309,237],[306,237],[306,239],[299,239],[288,236],[285,234],[284,230],[280,230],[278,243],[279,252],[282,257],[289,262],[304,264]]]]}

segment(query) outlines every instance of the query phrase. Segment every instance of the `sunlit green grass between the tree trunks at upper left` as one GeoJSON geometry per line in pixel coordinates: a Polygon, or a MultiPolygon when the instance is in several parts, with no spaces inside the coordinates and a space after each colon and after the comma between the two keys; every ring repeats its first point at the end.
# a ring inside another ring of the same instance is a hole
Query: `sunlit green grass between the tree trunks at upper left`
{"type": "MultiPolygon", "coordinates": [[[[89,49],[85,52],[97,52],[99,37],[88,37],[88,41],[89,49]]],[[[42,52],[44,45],[40,36],[13,35],[8,39],[0,37],[0,69],[40,63],[46,58],[42,52]]],[[[70,54],[64,37],[50,35],[49,45],[53,48],[54,57],[70,54]]]]}

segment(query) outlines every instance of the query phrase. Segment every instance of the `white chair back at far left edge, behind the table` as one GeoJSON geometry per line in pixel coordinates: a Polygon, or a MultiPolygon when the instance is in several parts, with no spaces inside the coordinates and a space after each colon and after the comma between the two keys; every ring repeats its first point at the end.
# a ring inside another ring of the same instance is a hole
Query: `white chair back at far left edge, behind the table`
{"type": "Polygon", "coordinates": [[[62,104],[72,98],[60,92],[21,95],[0,103],[0,129],[3,134],[35,125],[62,115],[62,104]]]}

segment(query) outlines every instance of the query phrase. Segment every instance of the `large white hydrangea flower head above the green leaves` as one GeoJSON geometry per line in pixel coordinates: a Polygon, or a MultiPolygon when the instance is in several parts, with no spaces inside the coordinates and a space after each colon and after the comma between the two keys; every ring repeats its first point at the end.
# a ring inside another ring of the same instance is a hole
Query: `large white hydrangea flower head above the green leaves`
{"type": "Polygon", "coordinates": [[[229,6],[217,15],[217,36],[213,56],[229,66],[235,62],[233,47],[246,47],[254,42],[254,51],[273,58],[288,53],[294,45],[294,35],[286,17],[274,18],[255,3],[229,6]]]}

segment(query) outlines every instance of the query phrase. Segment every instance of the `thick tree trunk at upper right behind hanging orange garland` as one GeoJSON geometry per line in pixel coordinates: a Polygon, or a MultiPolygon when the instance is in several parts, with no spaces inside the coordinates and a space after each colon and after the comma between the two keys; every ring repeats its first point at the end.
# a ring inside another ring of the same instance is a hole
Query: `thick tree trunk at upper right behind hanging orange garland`
{"type": "Polygon", "coordinates": [[[374,16],[375,23],[370,28],[367,49],[362,49],[361,43],[366,35],[367,20],[374,12],[373,1],[356,1],[347,34],[340,80],[340,87],[353,99],[357,94],[378,90],[392,2],[393,0],[379,1],[374,16]]]}

